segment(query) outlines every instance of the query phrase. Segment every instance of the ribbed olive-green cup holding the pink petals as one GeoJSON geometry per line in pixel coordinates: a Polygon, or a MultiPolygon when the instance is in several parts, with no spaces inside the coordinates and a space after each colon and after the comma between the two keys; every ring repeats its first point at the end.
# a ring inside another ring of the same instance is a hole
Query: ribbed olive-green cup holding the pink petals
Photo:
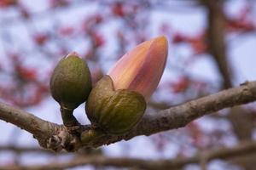
{"type": "Polygon", "coordinates": [[[128,89],[113,90],[111,77],[96,83],[86,102],[86,114],[93,126],[105,133],[126,133],[134,127],[146,110],[142,94],[128,89]]]}

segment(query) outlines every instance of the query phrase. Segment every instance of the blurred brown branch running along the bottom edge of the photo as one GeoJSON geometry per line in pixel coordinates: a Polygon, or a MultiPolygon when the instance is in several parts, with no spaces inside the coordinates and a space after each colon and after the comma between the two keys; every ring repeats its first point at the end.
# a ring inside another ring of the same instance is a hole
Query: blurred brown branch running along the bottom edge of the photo
{"type": "Polygon", "coordinates": [[[43,170],[43,169],[65,169],[70,167],[79,167],[84,165],[95,165],[103,167],[139,167],[142,169],[177,169],[188,164],[200,163],[201,159],[206,162],[212,159],[229,159],[235,156],[242,156],[256,152],[256,142],[248,141],[230,148],[219,148],[215,150],[203,151],[195,156],[188,158],[176,158],[173,160],[143,160],[136,158],[120,158],[120,157],[106,157],[106,156],[80,156],[74,157],[71,161],[65,162],[52,162],[48,165],[35,165],[35,166],[5,166],[0,167],[0,170],[43,170]]]}

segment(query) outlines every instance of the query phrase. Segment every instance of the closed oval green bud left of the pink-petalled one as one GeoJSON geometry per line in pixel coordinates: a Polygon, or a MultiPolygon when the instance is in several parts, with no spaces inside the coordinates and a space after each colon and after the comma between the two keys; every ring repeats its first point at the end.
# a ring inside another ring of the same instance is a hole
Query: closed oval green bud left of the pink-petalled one
{"type": "Polygon", "coordinates": [[[56,65],[49,82],[50,93],[62,108],[74,110],[84,103],[91,90],[90,71],[76,53],[56,65]]]}

